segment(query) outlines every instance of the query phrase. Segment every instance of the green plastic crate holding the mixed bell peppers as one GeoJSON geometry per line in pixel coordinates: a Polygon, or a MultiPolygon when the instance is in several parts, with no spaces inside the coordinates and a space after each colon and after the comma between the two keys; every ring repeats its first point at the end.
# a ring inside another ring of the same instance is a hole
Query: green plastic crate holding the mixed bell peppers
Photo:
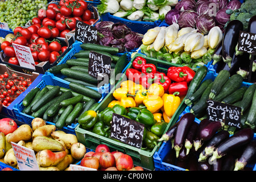
{"type": "MultiPolygon", "coordinates": [[[[137,56],[143,56],[146,58],[147,63],[155,64],[157,71],[159,71],[159,72],[167,73],[169,67],[171,67],[171,66],[178,67],[179,66],[176,64],[168,63],[166,61],[152,59],[150,57],[146,57],[146,56],[138,54],[138,53],[136,55],[134,55],[134,57],[131,61],[133,61],[137,56]]],[[[131,67],[132,67],[132,65],[130,64],[127,67],[127,69],[131,68],[131,67]]],[[[123,77],[126,77],[125,73],[119,79],[119,81],[115,85],[115,88],[119,87],[119,85],[122,82],[123,77]]],[[[113,97],[113,94],[112,94],[114,92],[115,88],[111,89],[110,93],[104,98],[104,100],[102,100],[102,102],[100,103],[100,105],[98,105],[96,110],[98,110],[99,112],[104,110],[106,107],[108,107],[108,104],[111,101],[115,100],[115,98],[113,97]]],[[[181,112],[185,109],[185,106],[186,105],[184,104],[184,100],[183,100],[181,102],[180,106],[177,108],[175,114],[171,118],[171,121],[168,123],[166,131],[172,125],[174,125],[174,123],[179,118],[179,115],[181,114],[181,112]]],[[[137,147],[130,146],[125,143],[117,142],[110,138],[102,137],[100,135],[92,133],[91,131],[84,130],[84,129],[82,129],[82,127],[80,125],[76,126],[75,131],[76,131],[76,136],[77,136],[77,139],[79,140],[79,142],[85,144],[86,147],[88,147],[92,150],[95,150],[95,148],[98,146],[98,144],[106,144],[110,147],[111,151],[118,150],[118,151],[121,151],[121,152],[124,152],[124,153],[130,155],[131,158],[133,158],[133,162],[136,166],[141,166],[143,168],[150,169],[150,170],[154,170],[154,168],[155,168],[153,155],[154,155],[155,151],[158,151],[162,142],[158,142],[158,146],[155,146],[151,151],[146,151],[146,150],[141,150],[137,147]]]]}

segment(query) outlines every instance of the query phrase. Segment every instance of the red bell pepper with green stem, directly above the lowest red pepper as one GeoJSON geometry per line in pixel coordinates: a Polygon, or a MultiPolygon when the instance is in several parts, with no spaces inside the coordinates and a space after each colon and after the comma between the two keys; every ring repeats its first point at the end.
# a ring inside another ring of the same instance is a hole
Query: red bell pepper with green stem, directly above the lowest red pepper
{"type": "Polygon", "coordinates": [[[185,69],[182,67],[170,67],[167,71],[167,76],[172,80],[176,82],[185,81],[188,77],[187,73],[185,72],[185,69]]]}

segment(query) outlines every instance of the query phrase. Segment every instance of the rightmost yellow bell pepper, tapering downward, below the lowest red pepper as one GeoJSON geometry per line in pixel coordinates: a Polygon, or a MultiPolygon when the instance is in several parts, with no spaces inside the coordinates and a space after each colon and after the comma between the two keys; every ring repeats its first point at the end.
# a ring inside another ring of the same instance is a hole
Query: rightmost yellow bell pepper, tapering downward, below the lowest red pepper
{"type": "Polygon", "coordinates": [[[174,94],[168,94],[164,97],[164,112],[168,117],[172,117],[174,115],[177,107],[180,105],[180,97],[175,96],[174,94]]]}

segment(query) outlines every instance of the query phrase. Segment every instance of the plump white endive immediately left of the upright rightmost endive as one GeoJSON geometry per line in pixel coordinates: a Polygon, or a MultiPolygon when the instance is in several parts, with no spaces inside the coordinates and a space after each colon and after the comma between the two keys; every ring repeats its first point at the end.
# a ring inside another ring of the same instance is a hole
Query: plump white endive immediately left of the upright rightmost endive
{"type": "Polygon", "coordinates": [[[195,33],[190,36],[185,41],[184,51],[193,52],[201,49],[204,46],[204,35],[200,33],[195,33]]]}

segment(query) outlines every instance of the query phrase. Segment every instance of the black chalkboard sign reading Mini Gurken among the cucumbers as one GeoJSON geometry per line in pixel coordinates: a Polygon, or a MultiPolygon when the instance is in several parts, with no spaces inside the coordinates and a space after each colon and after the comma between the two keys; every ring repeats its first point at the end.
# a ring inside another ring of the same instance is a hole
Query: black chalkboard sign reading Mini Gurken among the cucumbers
{"type": "Polygon", "coordinates": [[[111,57],[94,51],[89,53],[88,73],[95,78],[108,76],[111,71],[111,57]]]}

